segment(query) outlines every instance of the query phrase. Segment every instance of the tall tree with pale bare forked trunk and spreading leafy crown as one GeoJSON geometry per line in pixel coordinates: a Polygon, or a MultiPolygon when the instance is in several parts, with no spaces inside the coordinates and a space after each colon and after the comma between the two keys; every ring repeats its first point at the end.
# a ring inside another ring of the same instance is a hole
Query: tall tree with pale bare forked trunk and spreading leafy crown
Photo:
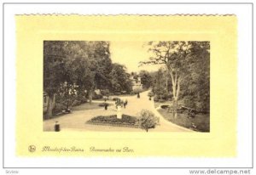
{"type": "MultiPolygon", "coordinates": [[[[149,61],[141,64],[163,64],[171,76],[172,81],[172,106],[177,115],[177,101],[179,99],[181,84],[188,74],[195,71],[191,63],[199,64],[198,56],[203,57],[199,50],[209,53],[209,42],[148,42],[149,51],[154,55],[149,61]]],[[[207,64],[207,61],[205,61],[207,64]]],[[[187,79],[188,80],[188,79],[187,79]]]]}

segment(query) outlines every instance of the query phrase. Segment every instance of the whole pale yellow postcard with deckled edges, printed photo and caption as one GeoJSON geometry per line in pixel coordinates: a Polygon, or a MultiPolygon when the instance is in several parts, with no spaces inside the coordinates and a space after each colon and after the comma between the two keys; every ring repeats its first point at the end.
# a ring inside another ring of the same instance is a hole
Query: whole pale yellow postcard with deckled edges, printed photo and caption
{"type": "Polygon", "coordinates": [[[15,18],[17,155],[236,155],[236,15],[15,18]]]}

